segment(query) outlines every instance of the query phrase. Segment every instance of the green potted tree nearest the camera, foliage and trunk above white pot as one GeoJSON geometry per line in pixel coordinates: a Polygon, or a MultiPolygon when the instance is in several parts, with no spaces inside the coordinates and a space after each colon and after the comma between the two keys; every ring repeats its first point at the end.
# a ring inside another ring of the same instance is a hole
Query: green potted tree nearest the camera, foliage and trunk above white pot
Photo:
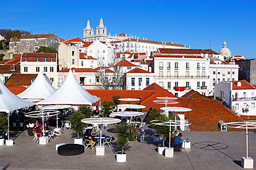
{"type": "Polygon", "coordinates": [[[125,147],[129,146],[129,142],[135,141],[136,136],[138,136],[134,126],[129,123],[118,123],[113,131],[118,134],[116,143],[118,144],[118,147],[122,147],[122,154],[124,153],[125,147]]]}

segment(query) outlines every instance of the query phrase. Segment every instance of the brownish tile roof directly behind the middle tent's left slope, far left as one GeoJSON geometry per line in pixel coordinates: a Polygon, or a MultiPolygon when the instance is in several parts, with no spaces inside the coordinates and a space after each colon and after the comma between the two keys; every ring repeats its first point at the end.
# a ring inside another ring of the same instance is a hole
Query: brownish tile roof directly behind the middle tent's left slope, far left
{"type": "Polygon", "coordinates": [[[6,86],[13,85],[31,85],[31,80],[35,79],[37,74],[12,74],[8,81],[5,83],[6,86]]]}

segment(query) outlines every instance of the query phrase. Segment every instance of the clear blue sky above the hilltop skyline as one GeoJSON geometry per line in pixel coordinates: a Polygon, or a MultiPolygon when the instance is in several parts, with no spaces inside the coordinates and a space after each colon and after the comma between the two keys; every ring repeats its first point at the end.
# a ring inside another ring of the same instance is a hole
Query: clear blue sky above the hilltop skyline
{"type": "Polygon", "coordinates": [[[107,34],[132,34],[219,52],[226,40],[232,55],[256,59],[256,1],[3,1],[0,28],[82,39],[86,21],[100,17],[107,34]],[[4,14],[4,15],[3,15],[4,14]],[[210,39],[210,43],[209,43],[210,39]]]}

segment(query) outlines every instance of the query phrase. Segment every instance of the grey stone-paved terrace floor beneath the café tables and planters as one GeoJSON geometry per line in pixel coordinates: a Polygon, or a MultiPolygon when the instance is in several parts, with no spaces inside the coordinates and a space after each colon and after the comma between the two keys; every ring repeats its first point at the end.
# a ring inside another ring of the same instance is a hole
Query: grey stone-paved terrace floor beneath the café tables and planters
{"type": "MultiPolygon", "coordinates": [[[[147,126],[147,125],[146,125],[147,126]]],[[[111,133],[112,125],[104,130],[111,133]]],[[[73,143],[73,131],[64,131],[61,137],[48,145],[32,141],[26,131],[15,138],[14,146],[0,147],[1,169],[242,169],[241,157],[246,156],[245,132],[184,131],[184,138],[192,142],[191,149],[174,152],[174,158],[165,158],[152,143],[152,129],[146,127],[145,141],[133,142],[127,151],[127,162],[116,162],[115,149],[106,146],[105,156],[95,156],[95,149],[86,149],[78,156],[60,156],[55,144],[73,143]]],[[[256,134],[249,133],[249,156],[256,160],[256,134]]],[[[254,167],[256,168],[256,163],[254,167]]]]}

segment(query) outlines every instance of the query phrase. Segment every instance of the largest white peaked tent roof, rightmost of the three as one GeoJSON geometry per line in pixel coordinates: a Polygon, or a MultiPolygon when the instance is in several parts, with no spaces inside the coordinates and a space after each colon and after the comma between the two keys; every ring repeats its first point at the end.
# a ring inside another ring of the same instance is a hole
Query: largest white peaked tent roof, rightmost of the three
{"type": "Polygon", "coordinates": [[[69,70],[68,76],[57,92],[40,101],[39,105],[92,105],[100,98],[92,96],[75,79],[73,72],[69,70]]]}

